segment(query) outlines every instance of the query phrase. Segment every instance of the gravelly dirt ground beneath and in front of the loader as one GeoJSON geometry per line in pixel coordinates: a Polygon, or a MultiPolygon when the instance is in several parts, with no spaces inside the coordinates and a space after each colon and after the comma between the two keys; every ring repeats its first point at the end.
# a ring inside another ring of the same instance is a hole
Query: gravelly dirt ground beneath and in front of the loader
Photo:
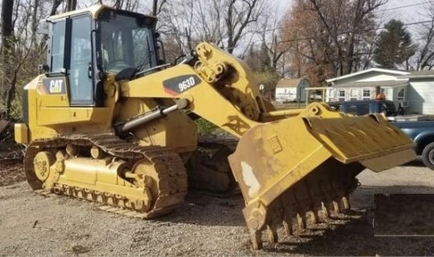
{"type": "Polygon", "coordinates": [[[434,237],[377,237],[372,228],[374,194],[434,193],[434,171],[421,162],[380,174],[364,170],[351,199],[354,211],[299,236],[280,231],[280,243],[260,251],[250,250],[240,195],[189,193],[179,211],[136,220],[101,211],[96,203],[36,195],[23,181],[20,164],[0,162],[2,177],[0,256],[434,255],[434,237]]]}

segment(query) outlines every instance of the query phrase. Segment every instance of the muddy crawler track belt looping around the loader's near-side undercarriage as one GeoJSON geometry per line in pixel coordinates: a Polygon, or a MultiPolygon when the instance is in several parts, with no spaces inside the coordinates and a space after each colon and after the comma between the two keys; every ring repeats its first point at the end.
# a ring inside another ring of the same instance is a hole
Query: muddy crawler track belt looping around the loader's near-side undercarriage
{"type": "MultiPolygon", "coordinates": [[[[146,212],[138,212],[132,210],[129,206],[119,208],[116,204],[116,206],[104,206],[100,209],[124,214],[129,217],[149,219],[178,209],[184,203],[184,196],[187,194],[188,190],[187,172],[178,153],[174,153],[170,148],[164,146],[141,146],[128,143],[113,134],[73,135],[32,142],[26,152],[24,167],[30,187],[38,193],[46,195],[48,193],[46,191],[48,190],[40,190],[43,188],[42,182],[38,180],[33,170],[33,159],[35,155],[46,148],[64,148],[68,144],[88,147],[96,145],[102,151],[113,157],[128,161],[146,159],[154,163],[159,180],[159,192],[155,197],[156,199],[153,199],[152,209],[146,212]]],[[[63,189],[65,188],[64,186],[68,187],[68,185],[56,185],[57,188],[63,189]]],[[[72,194],[71,192],[66,194],[67,192],[64,192],[64,190],[61,190],[61,192],[63,195],[76,196],[91,201],[95,201],[95,195],[104,194],[104,192],[91,192],[91,190],[86,188],[73,187],[72,190],[74,190],[72,194]],[[89,194],[91,194],[92,197],[80,197],[80,195],[89,194]]],[[[53,190],[50,190],[50,192],[51,191],[53,190]]],[[[121,196],[127,199],[125,195],[121,196]]]]}

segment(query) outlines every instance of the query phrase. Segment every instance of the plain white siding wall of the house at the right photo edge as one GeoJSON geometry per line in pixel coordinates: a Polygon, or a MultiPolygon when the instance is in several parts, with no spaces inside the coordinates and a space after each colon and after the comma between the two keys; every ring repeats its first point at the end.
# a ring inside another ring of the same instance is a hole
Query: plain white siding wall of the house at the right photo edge
{"type": "Polygon", "coordinates": [[[407,112],[434,114],[434,81],[410,80],[407,112]]]}

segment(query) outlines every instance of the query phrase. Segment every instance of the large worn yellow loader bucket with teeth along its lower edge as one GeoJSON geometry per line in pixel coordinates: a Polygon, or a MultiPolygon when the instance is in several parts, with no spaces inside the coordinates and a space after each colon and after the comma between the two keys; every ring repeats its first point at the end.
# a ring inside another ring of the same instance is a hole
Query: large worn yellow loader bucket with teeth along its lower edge
{"type": "Polygon", "coordinates": [[[351,117],[326,104],[311,104],[296,117],[249,129],[230,155],[230,167],[246,201],[243,210],[253,247],[262,231],[277,241],[283,224],[304,229],[349,209],[355,176],[368,168],[387,170],[416,157],[413,142],[382,115],[351,117]]]}

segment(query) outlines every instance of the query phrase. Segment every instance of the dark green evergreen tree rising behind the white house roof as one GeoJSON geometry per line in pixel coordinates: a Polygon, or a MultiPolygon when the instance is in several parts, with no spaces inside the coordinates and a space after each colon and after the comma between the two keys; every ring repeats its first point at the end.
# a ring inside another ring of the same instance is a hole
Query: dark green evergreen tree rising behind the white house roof
{"type": "Polygon", "coordinates": [[[402,21],[390,20],[385,29],[375,42],[374,61],[385,69],[396,69],[396,65],[405,62],[405,69],[408,70],[408,59],[416,53],[417,48],[412,35],[402,21]]]}

